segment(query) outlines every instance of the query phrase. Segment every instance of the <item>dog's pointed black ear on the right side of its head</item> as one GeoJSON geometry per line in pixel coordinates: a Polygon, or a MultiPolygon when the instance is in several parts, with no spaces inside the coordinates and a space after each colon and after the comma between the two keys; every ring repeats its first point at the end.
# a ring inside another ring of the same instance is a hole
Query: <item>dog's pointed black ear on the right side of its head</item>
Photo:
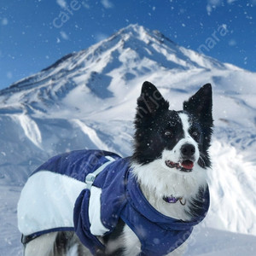
{"type": "Polygon", "coordinates": [[[183,110],[212,126],[212,85],[203,85],[189,101],[183,102],[183,110]]]}

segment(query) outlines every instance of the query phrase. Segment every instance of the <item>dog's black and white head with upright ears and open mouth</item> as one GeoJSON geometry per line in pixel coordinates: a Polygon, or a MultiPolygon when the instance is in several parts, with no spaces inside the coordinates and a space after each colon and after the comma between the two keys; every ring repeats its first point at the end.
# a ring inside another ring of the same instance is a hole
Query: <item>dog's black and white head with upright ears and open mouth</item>
{"type": "Polygon", "coordinates": [[[149,82],[137,99],[133,160],[143,166],[160,160],[171,172],[193,172],[195,165],[211,165],[208,155],[212,136],[212,86],[205,84],[182,111],[169,110],[169,103],[149,82]]]}

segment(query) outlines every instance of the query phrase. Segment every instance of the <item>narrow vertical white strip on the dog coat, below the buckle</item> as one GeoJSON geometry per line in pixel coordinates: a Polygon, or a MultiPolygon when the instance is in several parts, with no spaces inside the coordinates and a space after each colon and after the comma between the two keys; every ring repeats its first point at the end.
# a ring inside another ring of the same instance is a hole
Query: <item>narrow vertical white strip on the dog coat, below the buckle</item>
{"type": "Polygon", "coordinates": [[[96,188],[94,186],[91,187],[88,214],[90,221],[90,233],[94,236],[102,236],[109,231],[102,224],[101,195],[102,189],[96,188]]]}

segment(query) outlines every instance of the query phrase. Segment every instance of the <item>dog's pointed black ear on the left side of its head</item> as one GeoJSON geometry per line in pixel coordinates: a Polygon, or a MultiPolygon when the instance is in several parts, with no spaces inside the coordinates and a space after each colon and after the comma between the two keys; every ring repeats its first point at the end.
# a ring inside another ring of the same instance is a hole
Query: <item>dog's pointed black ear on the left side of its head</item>
{"type": "Polygon", "coordinates": [[[144,82],[141,96],[137,99],[137,118],[154,117],[156,113],[166,111],[169,108],[160,91],[149,82],[144,82]]]}

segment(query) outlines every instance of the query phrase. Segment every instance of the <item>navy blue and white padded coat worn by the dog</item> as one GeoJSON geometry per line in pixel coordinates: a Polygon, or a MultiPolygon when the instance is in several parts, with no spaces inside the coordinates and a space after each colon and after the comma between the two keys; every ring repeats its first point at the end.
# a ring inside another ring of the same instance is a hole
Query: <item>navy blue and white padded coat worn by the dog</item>
{"type": "Polygon", "coordinates": [[[130,158],[98,150],[78,150],[53,157],[32,173],[21,192],[20,232],[36,237],[52,231],[74,230],[84,246],[95,254],[97,249],[104,249],[96,236],[112,232],[121,218],[140,240],[140,256],[171,253],[205,218],[209,191],[202,191],[204,203],[197,218],[169,218],[148,203],[130,166],[130,158]],[[102,165],[104,168],[90,189],[85,178],[102,165]],[[90,201],[93,193],[98,197],[90,201]]]}

